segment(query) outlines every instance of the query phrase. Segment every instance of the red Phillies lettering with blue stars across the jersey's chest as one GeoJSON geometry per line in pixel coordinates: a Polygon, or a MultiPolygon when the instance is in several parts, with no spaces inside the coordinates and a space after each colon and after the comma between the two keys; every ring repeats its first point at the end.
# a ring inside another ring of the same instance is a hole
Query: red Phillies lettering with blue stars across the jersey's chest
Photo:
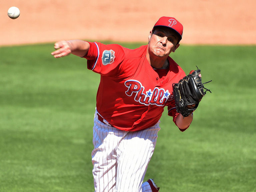
{"type": "Polygon", "coordinates": [[[144,87],[142,86],[141,82],[136,80],[128,80],[125,81],[125,86],[128,87],[128,90],[125,92],[126,95],[132,96],[134,95],[134,100],[140,102],[144,105],[157,105],[157,106],[164,106],[167,99],[171,95],[168,90],[159,89],[155,87],[152,91],[149,89],[146,91],[146,94],[143,93],[144,87]]]}

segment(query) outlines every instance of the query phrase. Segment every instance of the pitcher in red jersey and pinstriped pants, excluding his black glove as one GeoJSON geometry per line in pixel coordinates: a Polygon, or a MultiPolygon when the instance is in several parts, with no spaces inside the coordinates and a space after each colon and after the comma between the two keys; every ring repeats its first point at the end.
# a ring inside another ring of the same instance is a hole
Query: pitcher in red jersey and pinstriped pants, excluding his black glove
{"type": "Polygon", "coordinates": [[[161,17],[148,44],[127,49],[82,40],[55,43],[55,58],[70,53],[87,59],[87,68],[100,74],[94,115],[92,163],[96,192],[157,192],[152,179],[143,183],[153,155],[159,119],[168,115],[181,131],[193,115],[177,112],[173,83],[185,76],[169,56],[179,47],[183,26],[173,17],[161,17]]]}

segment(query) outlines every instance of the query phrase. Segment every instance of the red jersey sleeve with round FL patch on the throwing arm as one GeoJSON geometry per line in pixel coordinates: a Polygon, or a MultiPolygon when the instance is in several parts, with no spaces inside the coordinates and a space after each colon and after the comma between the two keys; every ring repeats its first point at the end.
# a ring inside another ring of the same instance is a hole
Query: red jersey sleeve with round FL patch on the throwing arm
{"type": "Polygon", "coordinates": [[[87,59],[87,68],[101,75],[117,75],[125,58],[123,47],[117,44],[88,43],[90,48],[84,56],[87,59]]]}

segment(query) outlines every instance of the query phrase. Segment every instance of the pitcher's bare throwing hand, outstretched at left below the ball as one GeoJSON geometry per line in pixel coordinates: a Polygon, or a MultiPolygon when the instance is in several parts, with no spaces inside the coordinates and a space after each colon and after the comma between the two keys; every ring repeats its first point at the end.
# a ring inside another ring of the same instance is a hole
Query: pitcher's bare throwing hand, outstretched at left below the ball
{"type": "Polygon", "coordinates": [[[71,53],[71,45],[68,41],[59,41],[54,44],[54,49],[56,51],[53,51],[51,54],[55,58],[65,57],[71,53]]]}

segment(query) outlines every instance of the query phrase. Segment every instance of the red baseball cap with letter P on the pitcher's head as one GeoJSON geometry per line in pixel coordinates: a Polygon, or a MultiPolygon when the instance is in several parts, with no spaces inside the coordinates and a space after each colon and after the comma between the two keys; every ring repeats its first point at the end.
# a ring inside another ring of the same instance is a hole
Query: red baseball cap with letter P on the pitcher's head
{"type": "Polygon", "coordinates": [[[182,34],[183,34],[183,26],[182,24],[175,19],[174,17],[161,17],[156,24],[154,25],[153,29],[155,27],[169,27],[173,29],[174,31],[177,32],[179,40],[182,39],[182,34]]]}

